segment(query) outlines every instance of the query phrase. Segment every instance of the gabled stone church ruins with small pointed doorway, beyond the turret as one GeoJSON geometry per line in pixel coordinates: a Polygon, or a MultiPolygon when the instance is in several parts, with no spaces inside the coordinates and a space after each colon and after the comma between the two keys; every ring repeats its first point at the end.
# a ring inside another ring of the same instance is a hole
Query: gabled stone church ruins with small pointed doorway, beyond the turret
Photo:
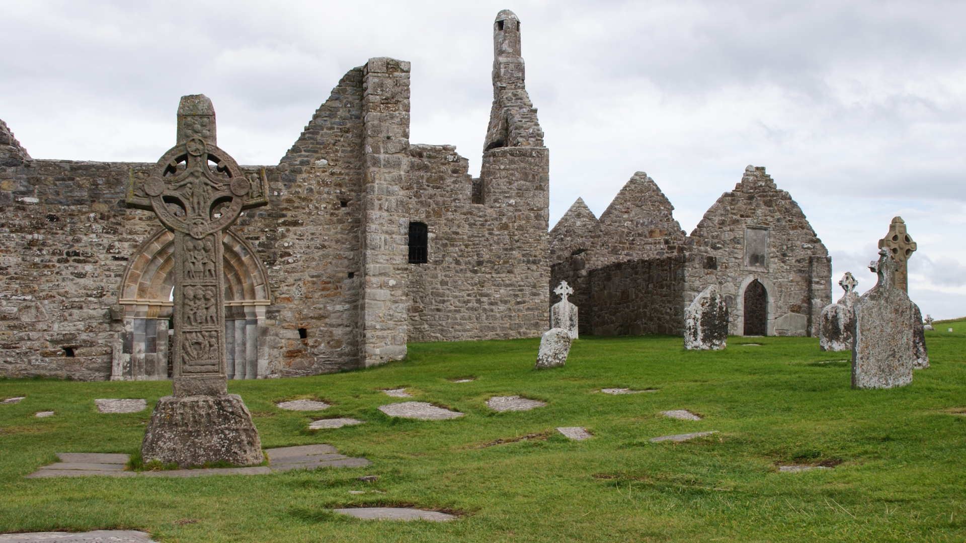
{"type": "Polygon", "coordinates": [[[716,286],[729,334],[818,336],[832,302],[832,261],[765,168],[748,166],[690,236],[673,210],[638,172],[599,219],[578,198],[556,223],[551,283],[574,288],[580,333],[682,335],[685,309],[716,286]]]}

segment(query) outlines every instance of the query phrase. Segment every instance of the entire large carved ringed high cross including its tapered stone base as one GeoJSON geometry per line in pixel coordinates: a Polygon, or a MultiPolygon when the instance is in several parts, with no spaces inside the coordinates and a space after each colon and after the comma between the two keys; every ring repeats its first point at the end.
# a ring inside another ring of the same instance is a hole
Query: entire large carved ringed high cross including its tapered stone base
{"type": "Polygon", "coordinates": [[[265,200],[248,197],[252,187],[215,135],[212,100],[182,97],[177,145],[128,186],[128,207],[155,212],[175,247],[174,395],[157,401],[141,456],[181,467],[264,460],[251,414],[227,388],[221,240],[242,210],[265,200]]]}

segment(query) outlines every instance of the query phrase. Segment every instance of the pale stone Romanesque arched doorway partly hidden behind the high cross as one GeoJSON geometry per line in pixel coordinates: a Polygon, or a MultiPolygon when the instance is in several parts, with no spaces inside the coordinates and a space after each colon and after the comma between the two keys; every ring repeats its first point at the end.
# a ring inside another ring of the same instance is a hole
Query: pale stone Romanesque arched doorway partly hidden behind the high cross
{"type": "MultiPolygon", "coordinates": [[[[168,379],[168,329],[172,315],[174,236],[158,230],[128,259],[118,293],[124,330],[114,345],[111,379],[168,379]]],[[[270,304],[268,274],[251,245],[227,231],[225,272],[225,368],[228,379],[255,379],[268,373],[258,357],[258,329],[270,304]]]]}

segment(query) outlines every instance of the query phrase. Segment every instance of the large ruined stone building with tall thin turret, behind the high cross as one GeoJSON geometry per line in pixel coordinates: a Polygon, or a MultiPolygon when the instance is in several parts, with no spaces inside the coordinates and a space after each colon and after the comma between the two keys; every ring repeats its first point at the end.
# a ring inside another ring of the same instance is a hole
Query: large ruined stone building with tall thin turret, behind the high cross
{"type": "MultiPolygon", "coordinates": [[[[232,378],[547,329],[549,152],[523,59],[495,68],[507,137],[476,183],[454,147],[410,145],[409,63],[388,58],[348,71],[277,165],[242,166],[268,205],[223,241],[232,378]],[[428,264],[408,263],[411,221],[430,228],[428,264]]],[[[34,160],[0,122],[0,375],[167,378],[170,236],[125,205],[153,166],[34,160]]]]}

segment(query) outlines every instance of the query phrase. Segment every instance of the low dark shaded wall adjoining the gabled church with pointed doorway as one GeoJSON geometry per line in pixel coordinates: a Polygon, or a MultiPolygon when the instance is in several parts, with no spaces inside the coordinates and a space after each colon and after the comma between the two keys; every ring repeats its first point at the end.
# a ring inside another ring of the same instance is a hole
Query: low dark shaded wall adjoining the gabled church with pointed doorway
{"type": "Polygon", "coordinates": [[[591,270],[588,309],[594,335],[682,335],[686,260],[674,255],[591,270]]]}

